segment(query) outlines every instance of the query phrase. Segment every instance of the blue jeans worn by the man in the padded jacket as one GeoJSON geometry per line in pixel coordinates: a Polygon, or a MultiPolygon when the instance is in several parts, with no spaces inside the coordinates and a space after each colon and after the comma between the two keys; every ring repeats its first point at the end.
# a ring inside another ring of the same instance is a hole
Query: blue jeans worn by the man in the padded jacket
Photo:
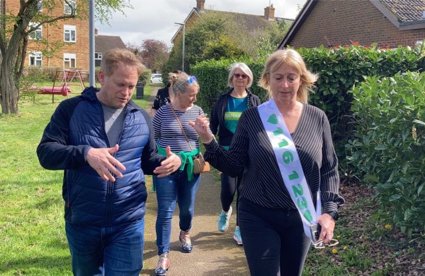
{"type": "Polygon", "coordinates": [[[114,226],[65,223],[76,276],[138,276],[143,267],[144,218],[114,226]]]}

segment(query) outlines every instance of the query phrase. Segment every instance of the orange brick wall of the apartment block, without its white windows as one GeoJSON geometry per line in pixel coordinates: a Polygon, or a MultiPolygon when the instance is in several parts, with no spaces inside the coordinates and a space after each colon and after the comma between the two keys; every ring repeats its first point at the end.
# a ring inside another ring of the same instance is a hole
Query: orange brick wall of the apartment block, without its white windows
{"type": "MultiPolygon", "coordinates": [[[[80,0],[77,0],[77,5],[80,0]]],[[[51,12],[50,15],[57,17],[64,15],[63,4],[60,5],[61,1],[51,12]]],[[[62,1],[63,2],[63,1],[62,1]]],[[[19,1],[6,1],[6,12],[11,14],[17,14],[19,11],[19,1]]],[[[47,9],[43,9],[40,13],[48,12],[47,9]]],[[[52,43],[54,41],[60,41],[66,43],[58,52],[54,53],[53,57],[42,57],[42,66],[64,66],[64,54],[66,57],[73,57],[75,55],[75,67],[83,68],[88,70],[89,68],[89,19],[66,19],[59,20],[51,24],[42,25],[42,37],[52,43]],[[65,42],[64,41],[64,27],[75,26],[76,42],[65,42]]],[[[30,53],[39,52],[45,47],[49,47],[49,43],[37,43],[36,40],[29,40],[28,51],[26,56],[25,65],[29,65],[30,53]]]]}

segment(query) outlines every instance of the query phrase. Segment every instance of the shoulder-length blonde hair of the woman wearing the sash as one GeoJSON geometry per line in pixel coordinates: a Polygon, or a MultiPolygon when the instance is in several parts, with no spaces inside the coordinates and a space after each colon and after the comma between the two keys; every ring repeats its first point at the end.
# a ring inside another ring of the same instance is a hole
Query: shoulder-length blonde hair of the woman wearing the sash
{"type": "Polygon", "coordinates": [[[274,52],[267,59],[264,65],[263,74],[259,81],[259,86],[269,91],[269,98],[271,99],[272,93],[267,78],[270,78],[271,74],[277,71],[282,65],[289,66],[300,74],[301,85],[296,93],[296,100],[306,104],[308,102],[308,91],[314,87],[314,83],[317,80],[317,74],[308,71],[301,55],[292,49],[279,50],[274,52]]]}

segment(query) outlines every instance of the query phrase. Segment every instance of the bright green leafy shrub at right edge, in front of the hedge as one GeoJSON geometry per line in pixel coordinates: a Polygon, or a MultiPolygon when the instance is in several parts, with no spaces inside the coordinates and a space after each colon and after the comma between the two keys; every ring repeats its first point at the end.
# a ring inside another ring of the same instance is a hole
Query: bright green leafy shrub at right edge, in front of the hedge
{"type": "Polygon", "coordinates": [[[352,90],[347,158],[401,231],[425,230],[425,72],[367,77],[352,90]]]}

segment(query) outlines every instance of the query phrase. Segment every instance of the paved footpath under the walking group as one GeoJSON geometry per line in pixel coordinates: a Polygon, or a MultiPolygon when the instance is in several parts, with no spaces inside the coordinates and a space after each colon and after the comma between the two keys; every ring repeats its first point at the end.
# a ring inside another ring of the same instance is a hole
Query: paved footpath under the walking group
{"type": "MultiPolygon", "coordinates": [[[[158,87],[154,87],[148,101],[147,111],[151,113],[152,102],[155,99],[158,87]]],[[[157,216],[156,193],[152,192],[152,178],[148,177],[146,187],[148,196],[145,217],[145,246],[143,254],[143,270],[140,275],[154,275],[158,263],[158,248],[156,246],[155,221],[157,216]]],[[[236,209],[235,202],[232,206],[236,209]]],[[[171,267],[167,276],[186,275],[237,275],[248,276],[243,247],[233,240],[235,231],[235,213],[231,216],[227,232],[221,233],[217,229],[217,219],[221,212],[220,182],[212,173],[203,173],[195,201],[195,217],[190,236],[194,249],[192,253],[183,253],[178,239],[179,212],[178,207],[173,217],[173,228],[169,258],[171,267]]]]}

